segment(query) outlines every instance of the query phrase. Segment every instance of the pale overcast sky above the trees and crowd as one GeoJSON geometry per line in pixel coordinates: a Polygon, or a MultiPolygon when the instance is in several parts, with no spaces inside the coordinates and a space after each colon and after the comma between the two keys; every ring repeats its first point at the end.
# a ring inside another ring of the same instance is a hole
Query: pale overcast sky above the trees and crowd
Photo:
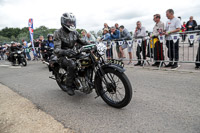
{"type": "Polygon", "coordinates": [[[72,12],[77,18],[77,28],[98,31],[106,22],[124,25],[133,31],[140,20],[147,30],[154,26],[153,15],[161,14],[167,21],[165,12],[172,8],[182,22],[189,16],[200,24],[200,0],[0,0],[0,29],[4,27],[27,27],[33,18],[34,28],[41,25],[60,28],[60,17],[64,12],[72,12]]]}

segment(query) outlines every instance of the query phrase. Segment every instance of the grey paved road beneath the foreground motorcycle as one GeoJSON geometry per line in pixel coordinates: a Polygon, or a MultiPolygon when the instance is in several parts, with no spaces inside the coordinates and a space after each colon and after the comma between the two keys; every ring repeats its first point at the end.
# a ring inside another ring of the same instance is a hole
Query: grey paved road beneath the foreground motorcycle
{"type": "Polygon", "coordinates": [[[200,133],[199,73],[129,68],[134,89],[123,109],[101,98],[62,92],[41,62],[27,67],[0,65],[0,82],[31,100],[66,127],[81,133],[200,133]]]}

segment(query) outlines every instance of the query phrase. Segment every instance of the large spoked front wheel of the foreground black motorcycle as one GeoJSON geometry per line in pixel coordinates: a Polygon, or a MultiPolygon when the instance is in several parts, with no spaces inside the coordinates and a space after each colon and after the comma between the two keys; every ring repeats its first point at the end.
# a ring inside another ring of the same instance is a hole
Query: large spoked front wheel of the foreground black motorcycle
{"type": "Polygon", "coordinates": [[[104,69],[104,78],[97,80],[97,90],[102,99],[110,106],[123,108],[132,98],[132,87],[124,73],[111,68],[104,69]]]}

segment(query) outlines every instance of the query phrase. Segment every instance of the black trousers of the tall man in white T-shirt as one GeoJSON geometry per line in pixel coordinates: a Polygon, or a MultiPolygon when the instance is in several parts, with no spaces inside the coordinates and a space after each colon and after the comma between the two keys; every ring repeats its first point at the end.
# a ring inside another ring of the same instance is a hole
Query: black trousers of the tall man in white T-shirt
{"type": "Polygon", "coordinates": [[[170,61],[179,60],[179,40],[174,44],[173,40],[167,40],[166,45],[168,48],[168,58],[170,61]]]}

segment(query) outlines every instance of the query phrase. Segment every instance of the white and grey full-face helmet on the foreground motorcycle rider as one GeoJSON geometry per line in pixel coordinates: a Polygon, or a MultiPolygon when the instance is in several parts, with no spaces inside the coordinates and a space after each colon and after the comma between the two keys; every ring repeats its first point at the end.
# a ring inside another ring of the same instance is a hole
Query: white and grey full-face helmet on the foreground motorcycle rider
{"type": "Polygon", "coordinates": [[[72,13],[64,13],[61,17],[61,25],[69,31],[76,30],[76,17],[72,13]]]}

